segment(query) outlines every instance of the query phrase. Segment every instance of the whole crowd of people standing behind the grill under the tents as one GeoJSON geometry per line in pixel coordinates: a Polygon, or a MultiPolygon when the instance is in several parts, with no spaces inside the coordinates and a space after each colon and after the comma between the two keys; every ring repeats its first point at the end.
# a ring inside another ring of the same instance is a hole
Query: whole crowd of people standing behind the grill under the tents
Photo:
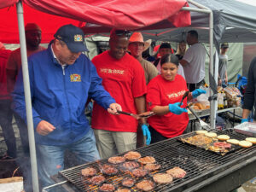
{"type": "MultiPolygon", "coordinates": [[[[37,24],[26,25],[32,119],[42,187],[53,184],[50,176],[64,169],[67,149],[84,164],[134,150],[143,143],[182,135],[189,123],[187,98],[181,103],[183,94],[189,91],[191,100],[206,93],[200,89],[205,79],[206,49],[194,30],[187,34],[188,49],[185,41],[178,44],[177,51],[171,44],[162,43],[150,61],[143,58],[150,41],[144,41],[141,32],[113,29],[109,49],[91,61],[83,54],[88,49],[79,27],[61,26],[47,49],[39,45],[41,32],[37,24]],[[91,125],[84,114],[90,101],[91,125]],[[121,111],[139,115],[136,119],[121,111]],[[148,111],[154,116],[143,118],[148,111]]],[[[16,157],[13,115],[24,154],[29,156],[20,49],[11,52],[0,45],[0,117],[8,148],[2,159],[16,157]]],[[[227,48],[227,44],[221,47],[227,48]]],[[[219,75],[226,83],[225,66],[219,75]]],[[[246,95],[250,101],[254,101],[253,71],[249,76],[251,92],[246,95]]],[[[247,110],[251,110],[247,102],[245,106],[244,120],[247,110]]]]}

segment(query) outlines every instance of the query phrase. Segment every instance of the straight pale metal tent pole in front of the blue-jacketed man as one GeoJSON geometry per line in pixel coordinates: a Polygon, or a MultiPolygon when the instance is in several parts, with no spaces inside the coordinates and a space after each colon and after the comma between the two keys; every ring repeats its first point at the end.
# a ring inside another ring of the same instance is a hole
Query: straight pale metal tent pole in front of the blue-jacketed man
{"type": "Polygon", "coordinates": [[[31,102],[29,74],[28,74],[28,67],[27,67],[26,38],[25,38],[25,29],[24,29],[23,7],[22,7],[21,1],[19,1],[16,4],[16,9],[17,9],[19,36],[20,36],[20,55],[21,55],[21,63],[22,63],[21,67],[22,67],[22,73],[23,73],[23,84],[24,84],[25,102],[26,102],[26,121],[27,121],[28,140],[29,140],[30,158],[31,158],[31,166],[32,166],[32,186],[33,186],[34,192],[39,192],[38,166],[37,166],[34,128],[33,128],[33,121],[32,121],[32,102],[31,102]]]}

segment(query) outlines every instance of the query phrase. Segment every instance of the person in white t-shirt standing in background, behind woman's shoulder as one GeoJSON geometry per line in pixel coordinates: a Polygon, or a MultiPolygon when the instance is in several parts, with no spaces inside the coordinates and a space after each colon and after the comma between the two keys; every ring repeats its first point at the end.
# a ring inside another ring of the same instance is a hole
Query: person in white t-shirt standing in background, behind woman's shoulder
{"type": "Polygon", "coordinates": [[[187,43],[190,47],[179,62],[183,66],[189,91],[193,91],[205,83],[206,49],[198,42],[195,30],[188,32],[187,43]]]}

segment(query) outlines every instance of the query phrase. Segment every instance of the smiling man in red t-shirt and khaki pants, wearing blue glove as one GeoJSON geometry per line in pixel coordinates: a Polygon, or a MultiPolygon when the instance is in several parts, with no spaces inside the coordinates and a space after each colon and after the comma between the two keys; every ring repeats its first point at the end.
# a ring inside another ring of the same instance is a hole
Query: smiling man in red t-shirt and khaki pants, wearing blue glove
{"type": "MultiPolygon", "coordinates": [[[[122,110],[130,113],[145,112],[147,91],[143,67],[126,53],[130,32],[113,29],[110,33],[110,49],[92,59],[102,84],[119,102],[122,110]]],[[[141,123],[145,123],[142,119],[141,123]]],[[[96,144],[102,158],[136,148],[137,119],[124,114],[115,117],[94,103],[91,127],[95,131],[96,144]]],[[[148,126],[143,125],[143,134],[150,143],[148,126]]]]}

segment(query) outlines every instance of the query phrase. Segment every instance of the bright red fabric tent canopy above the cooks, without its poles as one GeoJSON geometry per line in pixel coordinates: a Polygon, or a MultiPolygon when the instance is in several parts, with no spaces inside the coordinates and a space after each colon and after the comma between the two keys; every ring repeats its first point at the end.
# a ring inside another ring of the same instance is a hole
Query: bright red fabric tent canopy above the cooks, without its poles
{"type": "MultiPolygon", "coordinates": [[[[18,21],[14,3],[0,0],[0,42],[19,43],[18,21]],[[2,8],[2,9],[1,9],[2,8]]],[[[85,32],[108,32],[110,28],[143,30],[189,26],[186,0],[23,0],[25,25],[35,22],[42,28],[42,43],[49,43],[56,30],[67,23],[86,27],[85,32]],[[91,30],[90,30],[91,29],[91,30]]]]}

